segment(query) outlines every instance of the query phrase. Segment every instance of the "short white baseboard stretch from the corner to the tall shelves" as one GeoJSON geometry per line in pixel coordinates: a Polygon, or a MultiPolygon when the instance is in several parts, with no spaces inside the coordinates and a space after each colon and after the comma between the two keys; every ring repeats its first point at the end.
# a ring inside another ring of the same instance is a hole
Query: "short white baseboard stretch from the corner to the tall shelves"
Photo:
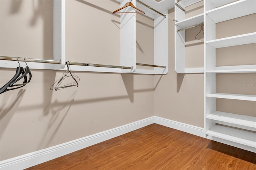
{"type": "Polygon", "coordinates": [[[204,128],[201,127],[196,127],[193,125],[188,125],[186,123],[172,121],[170,119],[165,119],[157,116],[155,116],[155,123],[165,127],[174,128],[183,132],[194,134],[196,136],[204,137],[204,128]]]}

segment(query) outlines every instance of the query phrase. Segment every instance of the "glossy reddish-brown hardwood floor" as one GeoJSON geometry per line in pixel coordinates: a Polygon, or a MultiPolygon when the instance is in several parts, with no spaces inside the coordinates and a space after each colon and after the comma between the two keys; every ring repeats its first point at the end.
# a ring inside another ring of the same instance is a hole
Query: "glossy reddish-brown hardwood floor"
{"type": "Polygon", "coordinates": [[[27,170],[256,170],[256,153],[152,124],[27,170]]]}

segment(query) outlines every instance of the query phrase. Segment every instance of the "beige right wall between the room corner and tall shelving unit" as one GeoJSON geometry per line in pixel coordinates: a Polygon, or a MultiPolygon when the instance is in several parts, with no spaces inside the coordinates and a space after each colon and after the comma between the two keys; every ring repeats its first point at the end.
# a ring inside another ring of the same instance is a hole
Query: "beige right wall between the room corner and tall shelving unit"
{"type": "MultiPolygon", "coordinates": [[[[202,14],[203,2],[186,8],[186,18],[202,14]]],[[[204,74],[180,74],[174,70],[174,8],[168,11],[169,72],[155,76],[155,115],[204,127],[204,74]]],[[[204,44],[195,36],[201,27],[186,30],[186,67],[204,67],[204,44]]],[[[203,38],[202,34],[198,38],[203,38]]]]}

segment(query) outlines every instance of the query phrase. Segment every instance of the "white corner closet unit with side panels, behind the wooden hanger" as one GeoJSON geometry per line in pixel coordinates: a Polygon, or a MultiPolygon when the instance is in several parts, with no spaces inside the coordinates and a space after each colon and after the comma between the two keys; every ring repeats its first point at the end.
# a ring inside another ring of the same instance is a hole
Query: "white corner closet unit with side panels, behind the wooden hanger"
{"type": "MultiPolygon", "coordinates": [[[[129,0],[116,0],[120,6],[124,6],[129,0]]],[[[121,62],[127,63],[126,56],[132,57],[131,73],[135,74],[166,74],[168,73],[168,9],[173,8],[172,0],[140,0],[144,4],[165,15],[162,16],[133,0],[132,3],[143,10],[145,15],[154,20],[154,63],[150,65],[166,66],[166,68],[154,67],[153,70],[136,68],[136,14],[121,14],[121,62]]],[[[129,9],[127,9],[129,10],[129,9]]],[[[130,61],[128,61],[130,62],[130,61]]]]}

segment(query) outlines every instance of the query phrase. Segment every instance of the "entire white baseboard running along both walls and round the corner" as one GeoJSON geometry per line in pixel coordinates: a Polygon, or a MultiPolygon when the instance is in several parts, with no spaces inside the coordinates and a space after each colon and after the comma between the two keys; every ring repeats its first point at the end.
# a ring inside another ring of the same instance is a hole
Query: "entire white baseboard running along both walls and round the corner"
{"type": "Polygon", "coordinates": [[[75,152],[77,150],[86,148],[88,146],[92,146],[94,144],[103,142],[105,140],[114,138],[116,136],[120,136],[122,134],[131,132],[138,128],[151,125],[153,123],[174,128],[177,130],[182,130],[184,132],[188,132],[197,136],[202,136],[202,137],[204,136],[203,128],[153,116],[153,117],[142,119],[140,121],[129,123],[127,125],[123,125],[117,128],[112,128],[110,130],[92,134],[84,138],[72,140],[70,142],[52,146],[50,148],[38,150],[36,152],[24,154],[21,156],[17,156],[15,158],[10,158],[8,160],[1,161],[0,169],[1,170],[22,170],[25,168],[29,168],[31,166],[41,164],[43,162],[58,158],[60,156],[64,156],[66,154],[75,152]]]}

